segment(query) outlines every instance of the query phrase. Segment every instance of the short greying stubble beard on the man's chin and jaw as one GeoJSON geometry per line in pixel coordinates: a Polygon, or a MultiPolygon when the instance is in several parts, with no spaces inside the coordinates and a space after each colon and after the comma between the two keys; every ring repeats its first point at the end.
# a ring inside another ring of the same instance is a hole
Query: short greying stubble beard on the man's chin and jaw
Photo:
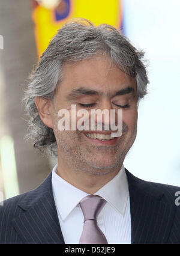
{"type": "Polygon", "coordinates": [[[131,128],[122,124],[122,135],[115,145],[102,147],[89,145],[82,131],[59,131],[54,126],[58,156],[76,172],[86,172],[89,175],[105,175],[121,168],[125,156],[136,139],[137,127],[131,128]]]}

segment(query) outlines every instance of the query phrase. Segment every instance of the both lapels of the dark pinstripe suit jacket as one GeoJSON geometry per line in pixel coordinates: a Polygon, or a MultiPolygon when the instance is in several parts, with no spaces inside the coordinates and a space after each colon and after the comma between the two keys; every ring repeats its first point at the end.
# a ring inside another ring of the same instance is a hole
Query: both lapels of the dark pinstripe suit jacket
{"type": "MultiPolygon", "coordinates": [[[[125,170],[131,208],[131,243],[166,243],[175,207],[164,204],[163,193],[153,183],[125,170]]],[[[12,224],[24,243],[64,243],[52,193],[52,173],[20,201],[22,213],[12,224]]]]}

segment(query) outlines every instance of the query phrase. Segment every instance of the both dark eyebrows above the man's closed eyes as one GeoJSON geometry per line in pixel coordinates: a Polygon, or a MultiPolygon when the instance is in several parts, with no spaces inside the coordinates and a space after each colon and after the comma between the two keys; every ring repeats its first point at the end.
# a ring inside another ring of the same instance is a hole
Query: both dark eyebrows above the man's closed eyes
{"type": "MultiPolygon", "coordinates": [[[[121,89],[119,91],[116,91],[115,94],[113,94],[113,97],[115,96],[119,96],[119,95],[124,95],[124,94],[130,94],[132,93],[133,96],[135,96],[135,90],[133,87],[126,87],[124,89],[121,89]]],[[[89,95],[89,96],[94,96],[94,95],[101,95],[103,93],[99,93],[98,91],[94,91],[85,87],[80,87],[77,89],[74,89],[73,91],[71,91],[70,94],[68,94],[66,96],[67,100],[73,100],[73,99],[77,99],[77,97],[80,97],[82,95],[89,95]]]]}

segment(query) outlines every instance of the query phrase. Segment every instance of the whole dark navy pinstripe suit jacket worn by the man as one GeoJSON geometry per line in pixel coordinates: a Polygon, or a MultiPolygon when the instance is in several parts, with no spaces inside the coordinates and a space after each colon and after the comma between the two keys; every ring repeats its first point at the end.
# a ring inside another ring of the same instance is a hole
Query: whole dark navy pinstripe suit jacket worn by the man
{"type": "MultiPolygon", "coordinates": [[[[128,178],[132,243],[180,243],[180,187],[128,178]]],[[[0,243],[64,243],[52,194],[52,173],[37,189],[0,206],[0,243]]]]}

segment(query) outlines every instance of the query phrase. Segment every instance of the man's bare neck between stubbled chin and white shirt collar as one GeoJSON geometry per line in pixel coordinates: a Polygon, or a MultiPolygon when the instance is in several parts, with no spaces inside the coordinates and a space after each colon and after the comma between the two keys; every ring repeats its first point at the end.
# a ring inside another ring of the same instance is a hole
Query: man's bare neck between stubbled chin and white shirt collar
{"type": "Polygon", "coordinates": [[[58,157],[57,174],[74,187],[87,194],[94,194],[118,174],[121,166],[122,163],[113,169],[95,169],[86,166],[86,169],[82,170],[78,166],[73,166],[70,163],[67,164],[64,159],[58,157]],[[91,172],[87,172],[87,169],[91,169],[91,172]]]}

